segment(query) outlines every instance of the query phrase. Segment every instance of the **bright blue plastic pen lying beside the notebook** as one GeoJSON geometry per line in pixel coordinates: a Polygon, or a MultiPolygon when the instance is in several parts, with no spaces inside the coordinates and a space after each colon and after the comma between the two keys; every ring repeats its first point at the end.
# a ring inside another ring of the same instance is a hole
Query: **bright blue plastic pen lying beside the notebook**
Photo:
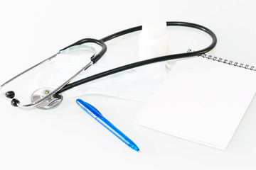
{"type": "Polygon", "coordinates": [[[95,107],[91,106],[89,103],[86,103],[85,101],[82,101],[81,99],[77,99],[76,102],[78,103],[81,108],[83,108],[87,113],[92,115],[93,118],[95,118],[99,123],[105,126],[110,132],[112,132],[114,135],[116,135],[122,142],[124,142],[126,145],[131,147],[132,149],[139,151],[139,147],[132,142],[132,140],[129,139],[126,135],[124,135],[120,130],[118,130],[112,123],[110,123],[109,120],[103,117],[103,115],[98,111],[95,107]]]}

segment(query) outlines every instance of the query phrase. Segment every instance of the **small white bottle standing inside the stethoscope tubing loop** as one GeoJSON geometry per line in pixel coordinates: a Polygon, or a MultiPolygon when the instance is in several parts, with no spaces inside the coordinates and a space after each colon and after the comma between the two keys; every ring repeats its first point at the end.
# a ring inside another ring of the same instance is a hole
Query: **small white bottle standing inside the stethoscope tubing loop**
{"type": "Polygon", "coordinates": [[[166,21],[162,18],[148,18],[142,23],[139,35],[139,60],[169,55],[169,35],[166,21]]]}

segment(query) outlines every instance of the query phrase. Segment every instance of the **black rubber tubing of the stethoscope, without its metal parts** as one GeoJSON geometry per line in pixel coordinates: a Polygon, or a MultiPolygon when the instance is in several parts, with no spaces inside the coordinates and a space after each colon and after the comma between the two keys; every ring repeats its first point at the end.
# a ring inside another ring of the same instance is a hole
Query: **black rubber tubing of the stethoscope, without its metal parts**
{"type": "MultiPolygon", "coordinates": [[[[161,56],[161,57],[155,57],[155,58],[152,58],[152,59],[149,59],[149,60],[134,62],[132,64],[127,64],[127,65],[124,65],[122,67],[117,67],[117,68],[114,68],[114,69],[107,70],[105,72],[101,72],[99,74],[95,74],[95,75],[92,75],[90,77],[86,77],[85,79],[80,79],[80,80],[75,81],[71,84],[67,84],[67,85],[63,86],[63,88],[60,89],[60,91],[58,91],[56,94],[60,94],[63,91],[67,91],[68,89],[72,89],[75,86],[80,86],[81,84],[85,84],[89,81],[93,81],[95,79],[100,79],[102,77],[106,77],[106,76],[109,76],[111,74],[122,72],[122,71],[125,71],[127,69],[133,69],[135,67],[141,67],[141,66],[144,66],[146,64],[152,64],[154,62],[162,62],[162,61],[166,61],[166,60],[175,60],[175,59],[181,59],[181,58],[185,58],[185,57],[193,57],[193,56],[197,56],[197,55],[202,55],[202,54],[212,50],[215,47],[215,45],[217,44],[217,37],[216,37],[215,33],[213,33],[212,30],[210,30],[210,29],[208,29],[204,26],[198,25],[196,23],[186,23],[186,22],[174,21],[174,22],[166,22],[166,25],[167,26],[183,26],[183,27],[196,28],[198,30],[202,30],[203,32],[208,33],[208,35],[210,35],[210,37],[212,38],[212,42],[208,47],[206,47],[202,50],[198,50],[198,51],[194,51],[194,52],[179,53],[179,54],[174,54],[174,55],[165,55],[165,56],[161,56]]],[[[93,63],[95,63],[98,60],[100,60],[100,58],[107,51],[107,45],[105,44],[105,42],[107,42],[109,40],[112,40],[114,38],[117,38],[119,36],[126,35],[128,33],[133,33],[133,32],[138,31],[138,30],[142,30],[142,26],[129,28],[127,30],[122,30],[122,31],[119,31],[119,32],[114,33],[112,35],[108,35],[107,37],[102,38],[100,40],[96,40],[96,39],[92,39],[92,38],[85,38],[85,39],[79,40],[78,42],[73,43],[72,45],[69,45],[68,47],[63,48],[62,50],[65,50],[65,49],[67,49],[69,47],[72,47],[72,46],[75,46],[75,45],[82,45],[82,44],[87,43],[87,42],[97,43],[97,45],[100,45],[102,47],[102,50],[100,50],[100,52],[97,53],[97,55],[91,57],[91,61],[93,63]]]]}

